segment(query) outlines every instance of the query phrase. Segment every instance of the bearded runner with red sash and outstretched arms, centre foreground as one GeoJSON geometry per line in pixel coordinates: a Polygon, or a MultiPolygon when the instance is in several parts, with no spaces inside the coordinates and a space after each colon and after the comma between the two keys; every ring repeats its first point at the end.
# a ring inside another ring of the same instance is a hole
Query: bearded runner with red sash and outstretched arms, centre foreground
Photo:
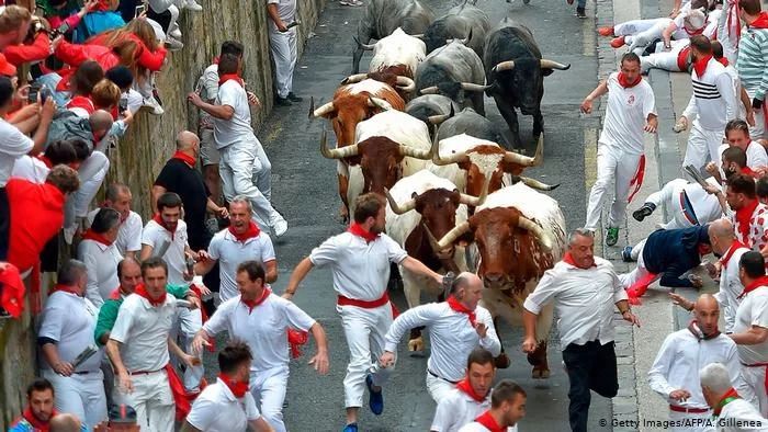
{"type": "Polygon", "coordinates": [[[369,408],[379,416],[384,410],[382,385],[392,367],[377,362],[392,326],[392,304],[387,294],[389,264],[400,264],[408,271],[431,277],[442,284],[442,276],[420,261],[408,257],[395,240],[383,234],[386,203],[375,194],[360,195],[355,203],[354,223],[347,232],[334,236],[315,248],[296,265],[283,297],[293,297],[298,284],[315,266],[331,265],[334,289],[338,294],[337,310],[349,346],[350,362],[345,377],[345,432],[358,432],[358,411],[363,393],[370,393],[369,408]]]}

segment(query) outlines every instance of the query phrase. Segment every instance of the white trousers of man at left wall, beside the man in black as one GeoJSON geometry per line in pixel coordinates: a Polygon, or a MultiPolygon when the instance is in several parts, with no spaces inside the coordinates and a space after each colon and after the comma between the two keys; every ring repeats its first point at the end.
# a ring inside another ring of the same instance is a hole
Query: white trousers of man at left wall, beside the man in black
{"type": "Polygon", "coordinates": [[[246,196],[253,206],[253,218],[263,228],[272,227],[282,216],[272,207],[272,164],[261,143],[255,137],[221,149],[218,172],[227,201],[246,196]]]}

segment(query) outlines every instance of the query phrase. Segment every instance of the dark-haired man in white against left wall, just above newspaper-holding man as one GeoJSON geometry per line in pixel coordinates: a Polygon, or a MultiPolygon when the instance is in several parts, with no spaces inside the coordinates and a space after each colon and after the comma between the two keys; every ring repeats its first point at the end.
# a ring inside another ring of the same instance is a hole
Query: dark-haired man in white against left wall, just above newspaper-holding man
{"type": "Polygon", "coordinates": [[[120,213],[112,208],[100,208],[91,227],[82,235],[78,245],[78,258],[88,266],[87,297],[101,307],[110,294],[120,286],[117,263],[123,257],[115,240],[120,232],[120,213]]]}

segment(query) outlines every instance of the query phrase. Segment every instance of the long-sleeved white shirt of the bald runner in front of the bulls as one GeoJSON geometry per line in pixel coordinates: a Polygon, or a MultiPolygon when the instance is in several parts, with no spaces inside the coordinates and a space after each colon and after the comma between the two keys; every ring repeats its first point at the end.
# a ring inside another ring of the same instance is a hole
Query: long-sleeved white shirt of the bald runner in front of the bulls
{"type": "Polygon", "coordinates": [[[501,352],[501,343],[488,309],[477,306],[475,322],[488,329],[481,339],[466,314],[458,312],[443,303],[430,303],[406,310],[395,319],[385,336],[384,349],[397,352],[397,342],[406,331],[426,326],[432,349],[427,368],[443,379],[458,382],[466,375],[466,356],[479,344],[494,356],[501,352]]]}

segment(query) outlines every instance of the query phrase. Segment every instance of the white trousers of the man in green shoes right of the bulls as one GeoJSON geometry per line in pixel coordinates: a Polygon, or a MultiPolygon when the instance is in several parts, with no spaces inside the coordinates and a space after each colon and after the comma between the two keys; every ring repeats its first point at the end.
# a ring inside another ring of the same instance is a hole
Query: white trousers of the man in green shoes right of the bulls
{"type": "Polygon", "coordinates": [[[597,181],[589,192],[587,206],[587,223],[585,228],[597,229],[600,220],[600,212],[606,201],[606,193],[611,180],[614,181],[613,203],[611,204],[608,227],[618,228],[626,213],[626,198],[630,195],[630,182],[637,173],[641,155],[632,155],[625,151],[598,144],[597,149],[597,181]]]}

